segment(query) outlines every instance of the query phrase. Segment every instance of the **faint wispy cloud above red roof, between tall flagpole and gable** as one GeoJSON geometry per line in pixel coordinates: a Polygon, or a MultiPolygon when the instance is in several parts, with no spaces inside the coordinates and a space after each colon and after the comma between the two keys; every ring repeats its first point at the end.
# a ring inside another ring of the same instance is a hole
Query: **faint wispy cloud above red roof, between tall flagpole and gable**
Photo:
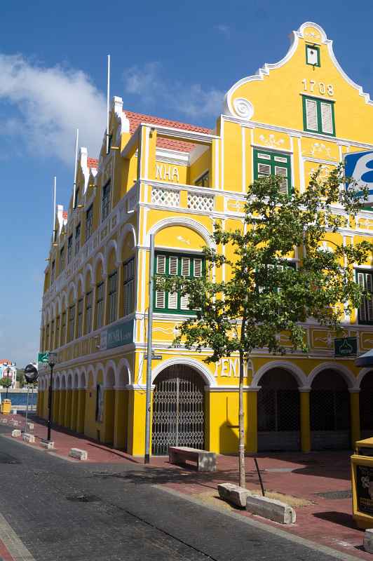
{"type": "Polygon", "coordinates": [[[137,95],[147,107],[164,105],[191,119],[215,118],[221,113],[224,92],[204,89],[200,83],[173,81],[162,74],[160,62],[127,69],[123,75],[126,93],[137,95]]]}

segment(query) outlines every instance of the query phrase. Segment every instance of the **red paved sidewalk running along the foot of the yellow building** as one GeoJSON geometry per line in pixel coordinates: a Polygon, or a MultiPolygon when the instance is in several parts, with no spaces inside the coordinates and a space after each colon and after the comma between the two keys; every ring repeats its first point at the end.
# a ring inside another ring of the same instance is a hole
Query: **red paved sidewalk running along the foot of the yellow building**
{"type": "MultiPolygon", "coordinates": [[[[0,421],[3,418],[4,416],[0,415],[0,421]]],[[[8,416],[8,419],[12,418],[22,424],[21,415],[8,416]]],[[[36,419],[34,415],[32,420],[33,433],[36,436],[36,443],[32,446],[40,448],[41,438],[46,438],[45,421],[36,419]]],[[[237,457],[219,456],[216,473],[198,473],[194,468],[174,466],[169,464],[168,458],[165,457],[151,458],[151,464],[147,469],[128,471],[129,463],[142,464],[143,459],[111,450],[110,447],[100,445],[84,436],[74,435],[62,428],[52,431],[52,439],[55,441],[56,448],[53,454],[60,457],[67,458],[71,447],[82,448],[88,451],[88,463],[114,464],[112,469],[115,471],[118,471],[123,463],[126,464],[126,474],[123,472],[123,477],[132,478],[135,483],[164,485],[168,489],[191,496],[210,506],[234,510],[245,517],[280,527],[286,532],[335,550],[362,559],[372,558],[362,550],[363,532],[355,528],[351,516],[349,460],[351,452],[257,454],[266,491],[286,495],[283,500],[292,503],[297,512],[297,522],[285,526],[260,517],[252,517],[249,513],[233,508],[219,499],[217,496],[219,482],[238,481],[237,457]]],[[[246,469],[247,488],[256,490],[260,494],[259,480],[252,457],[246,458],[246,469]]],[[[102,465],[102,473],[105,473],[104,465],[102,465]]],[[[121,473],[118,476],[121,476],[121,473]]]]}

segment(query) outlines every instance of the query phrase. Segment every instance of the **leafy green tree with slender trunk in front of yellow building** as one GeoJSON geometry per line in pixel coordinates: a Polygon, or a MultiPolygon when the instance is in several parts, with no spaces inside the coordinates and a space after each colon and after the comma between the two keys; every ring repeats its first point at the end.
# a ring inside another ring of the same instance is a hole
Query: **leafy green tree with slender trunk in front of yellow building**
{"type": "MultiPolygon", "coordinates": [[[[362,290],[355,283],[353,264],[365,262],[373,245],[367,241],[332,244],[328,234],[348,225],[367,198],[353,185],[344,188],[341,166],[323,180],[311,177],[304,193],[281,194],[280,177],[263,177],[247,190],[243,227],[224,231],[217,224],[212,242],[204,248],[207,267],[203,278],[157,276],[157,288],[189,295],[196,311],[179,325],[175,346],[201,351],[211,349],[207,363],[238,353],[239,381],[239,484],[245,486],[245,434],[243,413],[244,366],[253,349],[270,353],[307,352],[301,323],[314,318],[338,332],[344,313],[359,306],[362,290]],[[298,248],[297,268],[287,257],[298,248]],[[227,280],[218,276],[225,267],[227,280]],[[285,332],[289,346],[280,341],[285,332]]],[[[335,236],[334,236],[335,237],[335,236]]]]}

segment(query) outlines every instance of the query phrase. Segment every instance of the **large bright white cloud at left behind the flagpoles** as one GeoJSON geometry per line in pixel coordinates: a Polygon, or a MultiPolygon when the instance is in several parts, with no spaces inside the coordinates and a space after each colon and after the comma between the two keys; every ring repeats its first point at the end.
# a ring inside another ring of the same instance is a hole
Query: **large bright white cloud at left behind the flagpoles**
{"type": "Polygon", "coordinates": [[[79,145],[95,157],[105,128],[104,95],[75,69],[32,64],[21,55],[0,55],[0,107],[11,107],[0,128],[24,140],[34,154],[74,164],[75,129],[79,145]]]}

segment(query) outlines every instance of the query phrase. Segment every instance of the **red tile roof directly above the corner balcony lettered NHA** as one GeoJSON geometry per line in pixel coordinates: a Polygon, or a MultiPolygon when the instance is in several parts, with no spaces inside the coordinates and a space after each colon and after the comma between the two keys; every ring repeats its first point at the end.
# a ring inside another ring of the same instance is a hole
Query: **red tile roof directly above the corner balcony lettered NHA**
{"type": "MultiPolygon", "coordinates": [[[[163,119],[162,117],[155,117],[152,115],[144,115],[142,113],[134,113],[133,111],[126,111],[126,117],[130,121],[130,133],[135,132],[140,123],[150,123],[154,125],[163,125],[171,128],[182,128],[183,130],[194,130],[196,133],[210,134],[211,130],[205,127],[198,127],[190,125],[189,123],[180,123],[179,121],[170,121],[170,119],[163,119]]],[[[190,152],[196,144],[191,142],[184,142],[184,140],[172,140],[169,138],[157,138],[157,146],[160,148],[168,148],[170,150],[178,150],[181,152],[190,152]]]]}

